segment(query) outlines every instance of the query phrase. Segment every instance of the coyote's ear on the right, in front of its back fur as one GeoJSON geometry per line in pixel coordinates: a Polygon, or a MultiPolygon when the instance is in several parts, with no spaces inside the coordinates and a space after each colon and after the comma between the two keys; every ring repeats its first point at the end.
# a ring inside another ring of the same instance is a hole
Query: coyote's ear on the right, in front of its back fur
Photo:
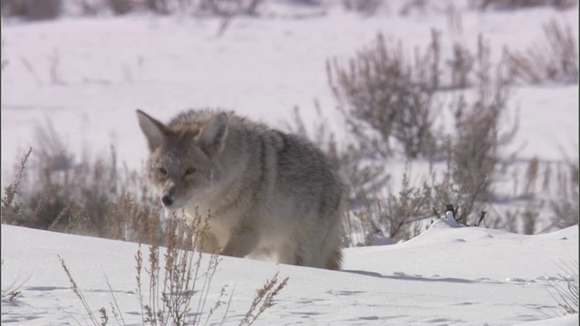
{"type": "Polygon", "coordinates": [[[219,113],[201,127],[196,142],[209,158],[218,158],[226,145],[227,114],[219,113]]]}

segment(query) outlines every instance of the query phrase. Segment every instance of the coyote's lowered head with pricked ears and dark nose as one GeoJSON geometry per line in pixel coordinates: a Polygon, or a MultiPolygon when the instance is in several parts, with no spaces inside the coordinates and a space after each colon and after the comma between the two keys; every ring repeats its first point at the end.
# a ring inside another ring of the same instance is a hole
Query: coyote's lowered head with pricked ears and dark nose
{"type": "Polygon", "coordinates": [[[207,196],[222,174],[218,159],[225,146],[228,121],[218,113],[205,123],[165,125],[137,110],[139,125],[149,144],[147,161],[151,182],[163,206],[177,209],[207,196]]]}

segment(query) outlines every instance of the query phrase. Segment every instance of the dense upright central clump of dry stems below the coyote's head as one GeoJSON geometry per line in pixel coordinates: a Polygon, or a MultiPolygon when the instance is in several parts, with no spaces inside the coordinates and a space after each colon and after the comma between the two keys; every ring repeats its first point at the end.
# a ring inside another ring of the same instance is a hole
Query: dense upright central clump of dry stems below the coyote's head
{"type": "MultiPolygon", "coordinates": [[[[197,218],[201,219],[200,216],[197,218]]],[[[203,267],[203,254],[184,249],[188,246],[191,248],[191,239],[196,235],[197,230],[194,231],[193,228],[182,223],[182,219],[175,214],[171,214],[166,225],[165,264],[161,264],[160,247],[157,245],[149,247],[149,268],[143,268],[140,249],[136,256],[137,291],[143,324],[197,325],[201,320],[202,312],[205,311],[211,281],[217,271],[220,259],[217,254],[212,254],[209,256],[208,262],[205,263],[207,267],[203,267]],[[143,270],[146,271],[149,279],[149,284],[145,284],[149,288],[147,300],[142,291],[144,285],[141,283],[143,270]],[[203,273],[201,277],[199,277],[199,273],[203,273]],[[198,295],[197,305],[192,302],[195,293],[198,295]],[[192,319],[191,307],[196,306],[197,313],[193,315],[192,319]]],[[[222,303],[224,294],[225,289],[222,289],[216,305],[222,303]]]]}

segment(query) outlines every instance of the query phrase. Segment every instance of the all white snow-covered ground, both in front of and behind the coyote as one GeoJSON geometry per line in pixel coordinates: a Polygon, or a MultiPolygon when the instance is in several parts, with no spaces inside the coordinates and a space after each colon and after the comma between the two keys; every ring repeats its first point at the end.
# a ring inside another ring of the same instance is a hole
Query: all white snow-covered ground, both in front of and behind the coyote
{"type": "MultiPolygon", "coordinates": [[[[271,1],[258,17],[234,18],[222,35],[221,21],[210,17],[3,19],[3,187],[24,149],[34,147],[34,126],[45,120],[75,154],[113,143],[130,168],[140,168],[147,154],[138,108],[167,120],[185,108],[221,107],[282,128],[295,106],[314,120],[316,99],[328,126],[345,137],[324,64],[352,56],[377,32],[401,39],[409,53],[429,43],[432,27],[442,33],[443,53],[456,39],[475,49],[483,34],[495,59],[503,45],[525,51],[552,18],[578,35],[577,7],[481,13],[458,0],[463,32],[451,37],[447,2],[404,16],[397,9],[404,1],[373,16],[326,3],[320,14],[271,1]]],[[[517,87],[510,101],[520,116],[511,146],[523,146],[521,158],[558,161],[562,151],[577,158],[577,84],[517,87]]],[[[208,302],[222,286],[235,288],[226,323],[237,324],[256,288],[279,272],[289,283],[258,324],[514,325],[563,315],[546,282],[563,284],[561,266],[577,262],[578,225],[545,235],[452,226],[440,220],[406,243],[345,249],[341,272],[224,258],[208,302]]],[[[2,225],[2,323],[85,323],[60,254],[95,313],[110,307],[106,274],[124,320],[139,324],[136,252],[136,244],[2,225]],[[22,294],[10,302],[4,294],[12,283],[22,283],[22,294]]],[[[212,322],[220,319],[217,313],[212,322]]],[[[576,325],[578,315],[538,322],[576,325]]]]}

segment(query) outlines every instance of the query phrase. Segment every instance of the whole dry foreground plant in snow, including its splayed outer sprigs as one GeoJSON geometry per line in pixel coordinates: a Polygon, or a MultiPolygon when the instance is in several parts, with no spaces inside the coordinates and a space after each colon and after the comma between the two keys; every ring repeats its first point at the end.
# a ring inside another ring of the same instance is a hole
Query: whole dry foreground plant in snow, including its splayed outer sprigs
{"type": "MultiPolygon", "coordinates": [[[[193,225],[204,224],[200,216],[193,225]]],[[[206,220],[207,221],[207,220],[206,220]]],[[[183,223],[178,216],[169,217],[165,230],[165,243],[168,245],[161,258],[162,249],[159,245],[150,245],[147,254],[147,266],[144,264],[141,245],[135,255],[137,297],[140,301],[141,322],[143,325],[198,325],[208,324],[209,319],[219,308],[226,306],[221,322],[227,318],[229,303],[234,295],[227,297],[227,286],[221,288],[218,299],[208,308],[208,295],[213,291],[212,281],[218,271],[220,258],[218,254],[201,254],[183,248],[190,248],[191,239],[203,241],[202,232],[183,223]],[[148,282],[149,281],[149,282],[148,282]]],[[[59,256],[64,273],[67,274],[71,289],[82,302],[84,311],[88,313],[93,325],[106,325],[110,315],[118,324],[124,325],[122,312],[115,298],[111,283],[107,285],[111,293],[111,314],[104,307],[99,309],[98,317],[92,311],[89,302],[75,282],[73,275],[63,258],[59,256]]],[[[267,280],[264,286],[256,290],[256,294],[247,313],[240,319],[239,325],[251,325],[268,308],[275,304],[275,296],[284,289],[288,282],[286,277],[281,282],[278,273],[267,280]]],[[[106,278],[106,275],[105,275],[106,278]]]]}

